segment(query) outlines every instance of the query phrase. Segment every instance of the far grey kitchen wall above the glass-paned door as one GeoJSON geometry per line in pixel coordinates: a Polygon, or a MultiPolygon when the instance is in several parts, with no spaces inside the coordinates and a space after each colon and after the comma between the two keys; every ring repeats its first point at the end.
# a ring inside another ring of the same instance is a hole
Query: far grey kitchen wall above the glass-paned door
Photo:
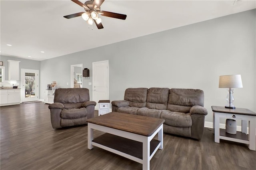
{"type": "MultiPolygon", "coordinates": [[[[6,80],[8,80],[8,62],[7,62],[7,60],[9,60],[9,59],[15,60],[15,61],[20,61],[19,77],[21,77],[21,69],[39,70],[39,76],[40,76],[40,61],[34,61],[34,60],[30,60],[30,59],[23,59],[23,58],[0,55],[0,61],[4,62],[3,66],[5,67],[5,79],[6,80]]],[[[18,83],[20,83],[20,81],[18,81],[18,83]]]]}

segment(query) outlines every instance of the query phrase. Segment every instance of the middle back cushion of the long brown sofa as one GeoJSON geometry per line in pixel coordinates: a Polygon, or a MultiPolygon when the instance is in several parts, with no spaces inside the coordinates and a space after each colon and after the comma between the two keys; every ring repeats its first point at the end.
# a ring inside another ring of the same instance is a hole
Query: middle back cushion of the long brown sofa
{"type": "Polygon", "coordinates": [[[148,109],[166,110],[169,96],[168,88],[152,87],[148,89],[146,107],[148,109]]]}

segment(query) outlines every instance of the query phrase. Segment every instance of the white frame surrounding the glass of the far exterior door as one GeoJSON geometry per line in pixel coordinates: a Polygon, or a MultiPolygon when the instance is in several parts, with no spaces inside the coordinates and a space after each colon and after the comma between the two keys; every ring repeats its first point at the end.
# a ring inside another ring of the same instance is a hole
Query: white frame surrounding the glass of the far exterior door
{"type": "Polygon", "coordinates": [[[25,94],[25,72],[36,72],[36,84],[35,84],[35,91],[36,91],[36,96],[35,98],[31,98],[31,99],[35,99],[32,101],[37,101],[39,100],[39,70],[34,70],[34,69],[21,69],[21,77],[20,77],[20,87],[21,87],[21,94],[20,94],[20,99],[22,102],[26,102],[24,101],[23,95],[25,94]],[[24,79],[24,81],[23,81],[24,79]],[[22,95],[23,94],[23,95],[22,95]]]}

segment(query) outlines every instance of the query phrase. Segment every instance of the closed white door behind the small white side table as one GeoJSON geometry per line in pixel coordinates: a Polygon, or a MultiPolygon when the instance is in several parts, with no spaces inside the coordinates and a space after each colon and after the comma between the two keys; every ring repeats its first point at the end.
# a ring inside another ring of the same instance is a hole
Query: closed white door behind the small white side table
{"type": "Polygon", "coordinates": [[[108,60],[92,63],[92,100],[97,103],[99,100],[108,100],[108,60]]]}

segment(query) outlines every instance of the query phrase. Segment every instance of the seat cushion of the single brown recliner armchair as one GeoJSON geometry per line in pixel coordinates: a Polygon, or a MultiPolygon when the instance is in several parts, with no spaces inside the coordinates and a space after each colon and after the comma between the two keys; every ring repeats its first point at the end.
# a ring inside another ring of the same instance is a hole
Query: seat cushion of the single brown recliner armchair
{"type": "Polygon", "coordinates": [[[87,109],[82,107],[80,109],[63,109],[60,117],[63,119],[78,119],[87,116],[87,109]]]}

